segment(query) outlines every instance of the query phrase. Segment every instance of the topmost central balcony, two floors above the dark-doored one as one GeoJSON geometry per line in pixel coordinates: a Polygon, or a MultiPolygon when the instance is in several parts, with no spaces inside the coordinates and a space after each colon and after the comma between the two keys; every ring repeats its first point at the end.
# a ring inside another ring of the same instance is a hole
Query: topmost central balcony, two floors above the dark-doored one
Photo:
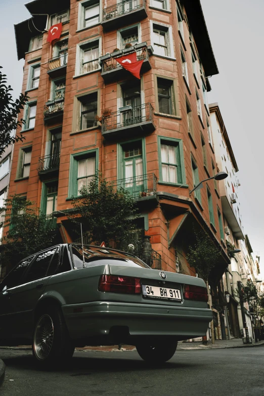
{"type": "Polygon", "coordinates": [[[102,26],[104,31],[109,31],[144,18],[147,18],[146,0],[125,0],[103,10],[102,26]]]}

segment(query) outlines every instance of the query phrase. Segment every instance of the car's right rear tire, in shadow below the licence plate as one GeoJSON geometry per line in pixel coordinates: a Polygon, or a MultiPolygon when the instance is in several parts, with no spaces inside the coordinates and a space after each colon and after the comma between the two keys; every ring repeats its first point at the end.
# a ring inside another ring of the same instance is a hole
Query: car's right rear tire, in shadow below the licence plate
{"type": "Polygon", "coordinates": [[[175,353],[178,341],[162,341],[141,342],[136,345],[139,356],[150,363],[167,362],[175,353]]]}

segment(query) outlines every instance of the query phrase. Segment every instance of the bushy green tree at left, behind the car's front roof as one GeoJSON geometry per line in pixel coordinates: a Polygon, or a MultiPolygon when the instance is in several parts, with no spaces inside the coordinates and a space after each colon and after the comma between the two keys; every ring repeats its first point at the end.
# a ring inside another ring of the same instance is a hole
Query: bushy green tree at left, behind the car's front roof
{"type": "Polygon", "coordinates": [[[3,237],[2,262],[12,269],[23,258],[54,245],[55,226],[46,215],[35,208],[34,203],[14,195],[5,200],[5,227],[9,231],[3,237]]]}

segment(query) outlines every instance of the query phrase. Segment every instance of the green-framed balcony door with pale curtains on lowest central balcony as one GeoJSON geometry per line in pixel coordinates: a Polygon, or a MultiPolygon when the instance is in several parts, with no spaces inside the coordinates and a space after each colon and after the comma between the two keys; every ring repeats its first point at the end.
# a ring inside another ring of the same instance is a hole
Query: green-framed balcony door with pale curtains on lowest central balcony
{"type": "Polygon", "coordinates": [[[142,143],[135,142],[123,146],[123,175],[122,187],[132,195],[138,196],[143,191],[143,156],[142,143]]]}

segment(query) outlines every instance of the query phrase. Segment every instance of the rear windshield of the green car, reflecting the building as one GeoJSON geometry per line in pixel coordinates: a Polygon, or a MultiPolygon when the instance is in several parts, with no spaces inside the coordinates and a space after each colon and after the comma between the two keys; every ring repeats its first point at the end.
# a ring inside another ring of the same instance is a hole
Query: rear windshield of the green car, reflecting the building
{"type": "MultiPolygon", "coordinates": [[[[79,246],[71,246],[72,258],[75,268],[83,268],[83,258],[82,258],[82,248],[79,246]]],[[[111,250],[105,250],[104,254],[100,254],[99,251],[93,251],[89,248],[83,248],[83,257],[85,267],[99,266],[99,265],[116,265],[125,267],[143,267],[149,268],[145,262],[141,261],[138,257],[125,256],[124,254],[119,255],[117,252],[113,252],[111,255],[111,250]],[[94,254],[95,253],[95,254],[94,254]],[[115,255],[115,253],[117,253],[115,255]]]]}

